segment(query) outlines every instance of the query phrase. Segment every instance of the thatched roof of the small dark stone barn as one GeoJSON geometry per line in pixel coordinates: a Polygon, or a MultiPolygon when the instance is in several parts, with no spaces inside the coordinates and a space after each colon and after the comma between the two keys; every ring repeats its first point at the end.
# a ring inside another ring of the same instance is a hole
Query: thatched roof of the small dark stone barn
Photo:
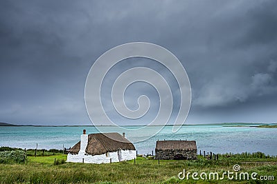
{"type": "Polygon", "coordinates": [[[196,150],[196,141],[157,141],[156,150],[196,150]]]}

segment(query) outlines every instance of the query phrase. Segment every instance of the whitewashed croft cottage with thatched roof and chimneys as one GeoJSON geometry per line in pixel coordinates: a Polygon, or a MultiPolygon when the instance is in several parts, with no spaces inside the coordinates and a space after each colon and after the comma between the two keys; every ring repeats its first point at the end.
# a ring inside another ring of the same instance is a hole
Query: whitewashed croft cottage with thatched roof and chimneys
{"type": "Polygon", "coordinates": [[[136,149],[118,133],[81,135],[81,141],[75,144],[67,155],[67,162],[74,163],[110,163],[128,161],[136,158],[136,149]]]}

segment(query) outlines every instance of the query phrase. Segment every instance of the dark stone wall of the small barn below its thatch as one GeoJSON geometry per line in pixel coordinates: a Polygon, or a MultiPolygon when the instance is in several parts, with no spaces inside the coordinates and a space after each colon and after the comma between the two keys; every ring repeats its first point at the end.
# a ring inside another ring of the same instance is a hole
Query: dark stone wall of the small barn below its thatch
{"type": "Polygon", "coordinates": [[[195,160],[197,150],[155,150],[155,159],[161,160],[195,160]]]}

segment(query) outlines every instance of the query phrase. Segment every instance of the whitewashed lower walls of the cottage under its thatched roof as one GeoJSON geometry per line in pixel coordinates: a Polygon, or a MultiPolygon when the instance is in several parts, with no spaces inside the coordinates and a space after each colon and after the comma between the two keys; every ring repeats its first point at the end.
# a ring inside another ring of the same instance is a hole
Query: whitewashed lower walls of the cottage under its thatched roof
{"type": "MultiPolygon", "coordinates": [[[[135,150],[121,150],[122,161],[132,160],[136,158],[135,150]]],[[[79,152],[78,154],[68,154],[66,162],[73,163],[82,163],[82,159],[84,158],[84,163],[110,163],[111,162],[119,162],[118,160],[118,152],[109,152],[109,155],[100,154],[100,155],[86,155],[83,152],[79,152]]]]}

